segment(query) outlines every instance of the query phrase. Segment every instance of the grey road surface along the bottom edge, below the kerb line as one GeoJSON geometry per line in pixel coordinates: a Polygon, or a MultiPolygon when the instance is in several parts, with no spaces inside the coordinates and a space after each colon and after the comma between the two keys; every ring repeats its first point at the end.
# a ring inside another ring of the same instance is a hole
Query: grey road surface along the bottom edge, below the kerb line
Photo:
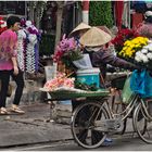
{"type": "MultiPolygon", "coordinates": [[[[91,151],[151,151],[152,145],[147,144],[140,139],[132,136],[121,137],[113,139],[111,145],[102,145],[91,151]]],[[[73,140],[60,141],[55,143],[42,143],[28,147],[10,148],[8,151],[86,151],[78,147],[73,140]]],[[[90,150],[89,150],[90,151],[90,150]]]]}

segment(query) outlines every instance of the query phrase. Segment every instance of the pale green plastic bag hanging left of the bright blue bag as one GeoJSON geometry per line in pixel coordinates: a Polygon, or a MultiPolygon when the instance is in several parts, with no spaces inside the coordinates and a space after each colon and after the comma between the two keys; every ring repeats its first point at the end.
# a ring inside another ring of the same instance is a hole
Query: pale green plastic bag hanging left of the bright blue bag
{"type": "Polygon", "coordinates": [[[128,77],[125,81],[123,91],[122,91],[122,98],[123,103],[128,104],[130,102],[130,98],[134,94],[134,91],[130,89],[130,77],[128,77]]]}

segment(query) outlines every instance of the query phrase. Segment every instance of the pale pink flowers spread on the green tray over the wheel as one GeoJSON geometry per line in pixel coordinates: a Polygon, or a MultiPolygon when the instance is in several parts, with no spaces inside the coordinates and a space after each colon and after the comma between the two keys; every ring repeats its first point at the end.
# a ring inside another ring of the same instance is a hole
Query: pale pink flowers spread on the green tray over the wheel
{"type": "Polygon", "coordinates": [[[74,88],[74,80],[75,78],[67,78],[64,73],[59,73],[55,78],[48,80],[43,88],[53,91],[61,87],[65,88],[74,88]]]}

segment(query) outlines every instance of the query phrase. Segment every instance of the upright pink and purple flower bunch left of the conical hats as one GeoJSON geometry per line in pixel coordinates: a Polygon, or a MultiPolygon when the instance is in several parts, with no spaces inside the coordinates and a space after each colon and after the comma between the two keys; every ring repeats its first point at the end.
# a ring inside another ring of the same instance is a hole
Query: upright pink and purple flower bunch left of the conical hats
{"type": "Polygon", "coordinates": [[[65,35],[63,36],[62,40],[59,42],[55,49],[55,53],[53,55],[53,61],[59,62],[62,60],[62,56],[65,53],[68,53],[69,51],[73,51],[76,49],[76,42],[74,38],[65,38],[65,35]]]}

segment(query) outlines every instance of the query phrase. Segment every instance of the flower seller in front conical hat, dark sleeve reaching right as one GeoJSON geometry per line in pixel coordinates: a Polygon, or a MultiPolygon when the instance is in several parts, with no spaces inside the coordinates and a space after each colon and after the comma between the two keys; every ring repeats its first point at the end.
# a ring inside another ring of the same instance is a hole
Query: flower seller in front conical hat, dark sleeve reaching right
{"type": "Polygon", "coordinates": [[[104,48],[104,45],[110,42],[111,39],[112,37],[107,33],[97,27],[91,27],[79,39],[79,42],[86,48],[87,52],[89,52],[92,65],[100,67],[103,78],[105,78],[107,64],[125,69],[139,68],[135,64],[115,56],[104,48]]]}

